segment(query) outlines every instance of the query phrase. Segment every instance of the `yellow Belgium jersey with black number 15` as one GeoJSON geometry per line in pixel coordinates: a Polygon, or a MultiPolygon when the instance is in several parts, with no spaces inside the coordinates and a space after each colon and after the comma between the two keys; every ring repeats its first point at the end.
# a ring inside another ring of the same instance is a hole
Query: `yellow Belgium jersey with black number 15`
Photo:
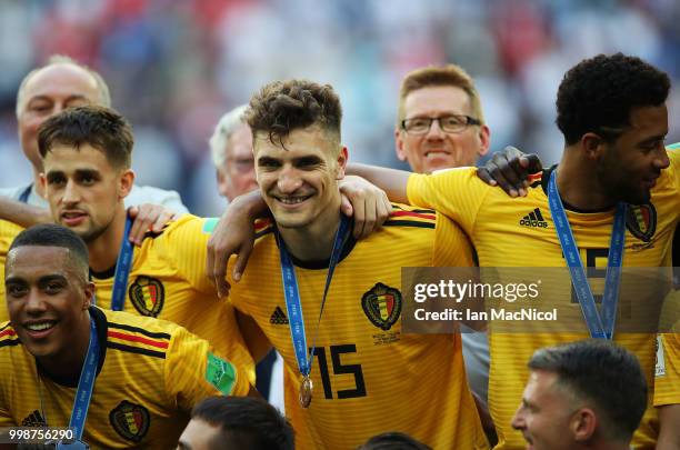
{"type": "Polygon", "coordinates": [[[472,264],[469,243],[452,222],[431,210],[396,206],[380,231],[361,241],[350,238],[318,329],[328,262],[293,260],[309,347],[318,332],[309,409],[298,401],[301,376],[273,227],[267,223],[256,236],[230,298],[283,357],[286,414],[298,449],[353,449],[392,430],[434,449],[488,448],[460,334],[401,332],[401,267],[472,264]]]}

